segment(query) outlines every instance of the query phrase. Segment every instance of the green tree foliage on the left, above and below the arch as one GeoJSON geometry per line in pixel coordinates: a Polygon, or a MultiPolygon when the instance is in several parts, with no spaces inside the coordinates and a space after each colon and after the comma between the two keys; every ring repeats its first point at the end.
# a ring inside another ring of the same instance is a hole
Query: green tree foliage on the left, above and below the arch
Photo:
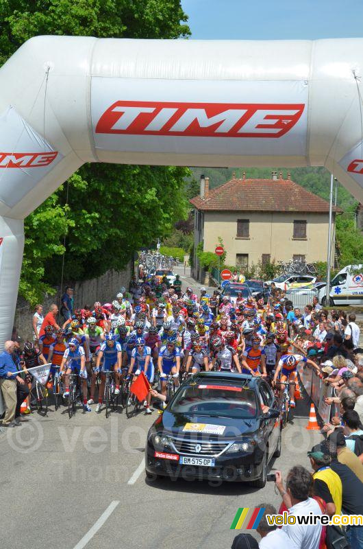
{"type": "MultiPolygon", "coordinates": [[[[32,36],[186,38],[187,19],[180,0],[0,0],[0,63],[32,36]]],[[[21,294],[34,303],[60,282],[64,235],[64,279],[123,268],[186,218],[186,176],[183,167],[84,165],[25,220],[21,294]]]]}

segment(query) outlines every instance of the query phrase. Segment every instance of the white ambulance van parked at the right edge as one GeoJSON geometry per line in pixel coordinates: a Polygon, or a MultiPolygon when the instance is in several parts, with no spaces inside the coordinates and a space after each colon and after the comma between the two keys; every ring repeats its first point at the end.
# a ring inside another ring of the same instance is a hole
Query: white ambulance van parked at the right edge
{"type": "MultiPolygon", "coordinates": [[[[327,303],[326,286],[318,292],[323,307],[327,303]]],[[[363,264],[347,265],[330,283],[329,305],[363,305],[363,264]]]]}

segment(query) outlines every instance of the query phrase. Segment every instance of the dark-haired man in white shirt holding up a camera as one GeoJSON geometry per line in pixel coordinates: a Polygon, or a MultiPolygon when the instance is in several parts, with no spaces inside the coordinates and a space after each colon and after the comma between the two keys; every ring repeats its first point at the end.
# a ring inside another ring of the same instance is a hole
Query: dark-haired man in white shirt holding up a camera
{"type": "MultiPolygon", "coordinates": [[[[275,471],[276,487],[288,508],[289,515],[321,515],[321,507],[309,497],[312,490],[312,476],[305,467],[295,465],[288,472],[286,489],[281,471],[275,471]]],[[[321,524],[286,524],[282,530],[290,538],[292,549],[317,549],[321,538],[321,524]]]]}

